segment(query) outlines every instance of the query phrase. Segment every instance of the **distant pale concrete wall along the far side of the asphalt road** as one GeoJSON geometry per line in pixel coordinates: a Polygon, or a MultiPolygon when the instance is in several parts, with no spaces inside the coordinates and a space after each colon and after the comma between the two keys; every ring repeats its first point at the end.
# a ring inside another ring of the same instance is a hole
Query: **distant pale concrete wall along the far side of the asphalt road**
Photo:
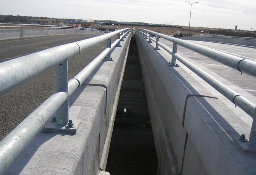
{"type": "Polygon", "coordinates": [[[99,32],[97,31],[78,30],[78,29],[4,29],[4,30],[0,30],[0,40],[42,37],[42,36],[52,36],[52,35],[98,34],[98,33],[99,32]]]}

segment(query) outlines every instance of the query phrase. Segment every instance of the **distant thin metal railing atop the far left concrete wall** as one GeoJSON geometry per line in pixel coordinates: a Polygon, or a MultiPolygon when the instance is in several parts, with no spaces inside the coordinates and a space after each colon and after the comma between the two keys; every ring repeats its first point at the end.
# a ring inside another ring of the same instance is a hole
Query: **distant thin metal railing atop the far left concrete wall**
{"type": "Polygon", "coordinates": [[[96,29],[84,28],[84,27],[73,27],[66,25],[41,25],[41,24],[9,24],[0,23],[0,29],[78,29],[78,30],[91,30],[102,32],[96,29]]]}

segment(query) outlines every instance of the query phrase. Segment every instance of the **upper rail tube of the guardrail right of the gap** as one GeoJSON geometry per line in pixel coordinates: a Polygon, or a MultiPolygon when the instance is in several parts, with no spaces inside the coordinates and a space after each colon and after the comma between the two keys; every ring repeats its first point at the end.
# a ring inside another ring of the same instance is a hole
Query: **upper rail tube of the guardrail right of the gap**
{"type": "Polygon", "coordinates": [[[161,38],[164,38],[168,41],[172,41],[173,43],[177,43],[180,46],[191,49],[193,51],[198,52],[199,54],[202,54],[202,55],[207,56],[211,59],[214,59],[218,62],[221,62],[222,64],[232,67],[235,70],[256,76],[256,62],[255,61],[248,60],[248,59],[242,59],[237,56],[232,56],[230,54],[226,54],[224,52],[216,51],[211,48],[206,48],[204,46],[200,46],[200,45],[197,45],[194,43],[183,41],[178,38],[170,37],[170,36],[163,35],[163,34],[157,33],[157,32],[152,32],[151,30],[147,30],[147,29],[138,29],[138,30],[143,30],[143,31],[155,34],[155,35],[157,35],[161,38]]]}

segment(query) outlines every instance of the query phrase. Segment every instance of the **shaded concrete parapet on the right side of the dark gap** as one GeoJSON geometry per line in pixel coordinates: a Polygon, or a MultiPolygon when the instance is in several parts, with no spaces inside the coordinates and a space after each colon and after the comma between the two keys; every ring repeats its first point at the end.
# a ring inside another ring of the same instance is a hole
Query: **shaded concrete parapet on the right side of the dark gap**
{"type": "MultiPolygon", "coordinates": [[[[248,121],[238,116],[235,106],[232,110],[219,92],[180,62],[177,61],[180,67],[170,67],[171,56],[163,49],[154,50],[155,44],[147,43],[138,33],[135,38],[159,162],[158,174],[255,174],[255,153],[244,153],[234,142],[241,133],[246,137],[250,134],[248,121]],[[187,96],[191,94],[218,99],[187,96]]],[[[213,72],[210,74],[239,89],[213,72]]],[[[241,95],[246,93],[243,91],[241,95]]],[[[252,95],[247,93],[247,96],[252,95]]],[[[247,118],[245,113],[242,115],[247,118]]]]}

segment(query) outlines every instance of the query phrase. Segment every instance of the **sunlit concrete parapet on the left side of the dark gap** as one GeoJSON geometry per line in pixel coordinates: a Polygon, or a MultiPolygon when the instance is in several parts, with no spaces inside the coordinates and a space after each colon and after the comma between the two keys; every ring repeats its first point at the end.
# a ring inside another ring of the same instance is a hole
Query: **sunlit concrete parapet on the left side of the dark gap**
{"type": "Polygon", "coordinates": [[[105,169],[130,38],[112,52],[114,61],[102,61],[70,97],[77,133],[40,132],[5,174],[96,175],[105,169]]]}

